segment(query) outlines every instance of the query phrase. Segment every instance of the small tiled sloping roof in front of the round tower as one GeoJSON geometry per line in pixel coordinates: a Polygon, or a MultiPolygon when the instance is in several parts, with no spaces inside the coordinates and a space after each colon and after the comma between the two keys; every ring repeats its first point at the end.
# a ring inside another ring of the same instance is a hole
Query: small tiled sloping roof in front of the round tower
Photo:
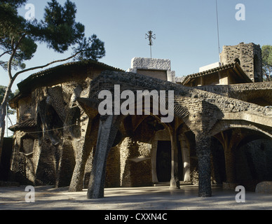
{"type": "Polygon", "coordinates": [[[243,71],[243,69],[240,67],[240,64],[238,63],[231,63],[231,64],[225,64],[224,66],[219,66],[217,68],[214,69],[210,69],[207,71],[202,71],[199,73],[193,73],[189,76],[186,76],[183,80],[182,80],[182,85],[185,85],[186,83],[189,83],[190,80],[192,80],[193,78],[198,78],[201,76],[208,76],[212,73],[218,73],[219,71],[226,71],[229,69],[233,69],[233,71],[235,73],[238,74],[238,76],[240,76],[241,78],[243,78],[245,80],[245,83],[252,83],[252,80],[245,74],[245,72],[243,71]]]}

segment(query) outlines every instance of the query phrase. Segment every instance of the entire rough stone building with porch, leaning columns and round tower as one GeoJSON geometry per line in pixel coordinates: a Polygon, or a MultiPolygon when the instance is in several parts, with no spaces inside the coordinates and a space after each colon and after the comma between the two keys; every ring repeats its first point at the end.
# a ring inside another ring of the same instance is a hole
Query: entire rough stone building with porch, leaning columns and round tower
{"type": "Polygon", "coordinates": [[[272,83],[259,82],[260,52],[253,43],[226,46],[222,66],[184,78],[169,60],[137,57],[128,72],[86,61],[29,76],[10,102],[18,111],[11,180],[88,188],[88,198],[103,197],[104,186],[184,181],[210,197],[212,183],[252,190],[272,181],[272,83]],[[174,91],[174,120],[161,123],[165,114],[152,110],[100,116],[100,92],[116,99],[116,85],[135,95],[174,91]]]}

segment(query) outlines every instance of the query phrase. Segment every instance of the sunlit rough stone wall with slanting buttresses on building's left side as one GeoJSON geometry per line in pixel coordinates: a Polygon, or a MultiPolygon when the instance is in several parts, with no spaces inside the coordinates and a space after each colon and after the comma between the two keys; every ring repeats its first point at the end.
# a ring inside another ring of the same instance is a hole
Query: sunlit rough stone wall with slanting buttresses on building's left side
{"type": "Polygon", "coordinates": [[[88,92],[90,81],[102,70],[88,69],[87,73],[84,69],[71,70],[72,79],[67,76],[67,80],[60,79],[60,83],[47,86],[41,83],[42,87],[19,99],[18,123],[32,118],[37,126],[16,130],[14,134],[11,180],[38,186],[69,186],[88,127],[88,116],[74,102],[74,97],[88,97],[84,94],[88,92]],[[32,152],[26,154],[22,144],[29,135],[34,145],[32,152]]]}

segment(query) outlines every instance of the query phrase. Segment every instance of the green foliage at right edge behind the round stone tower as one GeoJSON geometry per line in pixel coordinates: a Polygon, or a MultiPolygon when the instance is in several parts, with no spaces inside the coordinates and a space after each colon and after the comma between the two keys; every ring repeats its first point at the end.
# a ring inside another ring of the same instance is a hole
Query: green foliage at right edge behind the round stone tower
{"type": "Polygon", "coordinates": [[[264,79],[271,80],[272,78],[272,45],[264,45],[261,48],[263,58],[264,79]]]}

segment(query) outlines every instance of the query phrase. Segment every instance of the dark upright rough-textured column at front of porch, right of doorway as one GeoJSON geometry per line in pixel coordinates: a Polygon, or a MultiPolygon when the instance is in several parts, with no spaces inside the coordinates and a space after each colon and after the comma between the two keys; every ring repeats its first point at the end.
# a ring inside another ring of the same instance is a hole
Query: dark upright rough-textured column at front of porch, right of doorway
{"type": "Polygon", "coordinates": [[[204,133],[196,134],[196,151],[198,154],[198,182],[199,197],[212,197],[211,165],[210,165],[211,137],[204,133]]]}

